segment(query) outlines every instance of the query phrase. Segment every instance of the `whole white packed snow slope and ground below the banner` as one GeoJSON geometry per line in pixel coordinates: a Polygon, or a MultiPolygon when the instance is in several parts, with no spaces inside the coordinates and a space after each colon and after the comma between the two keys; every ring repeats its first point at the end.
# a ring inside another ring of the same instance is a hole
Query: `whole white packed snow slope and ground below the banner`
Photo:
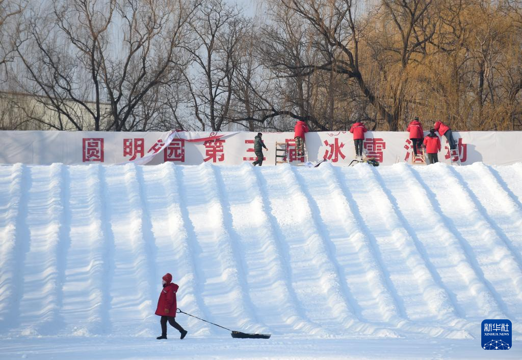
{"type": "Polygon", "coordinates": [[[522,357],[522,164],[0,166],[0,237],[0,358],[522,357]]]}

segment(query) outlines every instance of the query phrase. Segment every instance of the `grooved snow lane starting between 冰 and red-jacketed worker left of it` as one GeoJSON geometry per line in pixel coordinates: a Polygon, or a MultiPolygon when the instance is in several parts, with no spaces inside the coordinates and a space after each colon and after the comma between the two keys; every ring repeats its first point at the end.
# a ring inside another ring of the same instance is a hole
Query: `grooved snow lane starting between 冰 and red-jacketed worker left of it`
{"type": "MultiPolygon", "coordinates": [[[[308,199],[314,225],[323,239],[323,249],[320,250],[328,254],[329,261],[335,267],[336,282],[339,283],[343,301],[349,304],[350,309],[361,321],[354,324],[354,328],[357,329],[355,331],[372,333],[374,336],[398,337],[399,335],[392,330],[376,329],[377,324],[372,324],[367,318],[385,322],[390,317],[396,317],[397,311],[390,296],[380,299],[380,304],[384,305],[384,308],[381,308],[373,295],[374,292],[378,296],[382,295],[384,286],[375,274],[365,274],[357,251],[362,245],[360,229],[352,220],[350,206],[339,189],[331,167],[325,164],[321,170],[303,168],[295,171],[300,187],[308,199]],[[339,206],[335,206],[336,204],[339,206]],[[344,225],[345,222],[352,224],[347,226],[344,225]],[[353,244],[350,244],[351,239],[354,241],[353,244]],[[385,314],[383,309],[389,313],[385,314]]],[[[395,322],[393,326],[396,325],[395,322]]]]}

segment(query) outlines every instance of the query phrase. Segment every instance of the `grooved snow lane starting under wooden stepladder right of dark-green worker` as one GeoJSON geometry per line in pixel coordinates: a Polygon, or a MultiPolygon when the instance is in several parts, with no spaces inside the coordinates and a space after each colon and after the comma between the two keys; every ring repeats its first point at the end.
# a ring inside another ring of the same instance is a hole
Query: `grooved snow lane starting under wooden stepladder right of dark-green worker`
{"type": "MultiPolygon", "coordinates": [[[[342,296],[339,276],[290,165],[267,167],[263,175],[270,189],[271,213],[288,244],[292,286],[305,314],[327,331],[346,332],[357,318],[342,296]],[[323,308],[320,313],[319,307],[323,308]]],[[[372,331],[366,327],[361,332],[372,331]]]]}

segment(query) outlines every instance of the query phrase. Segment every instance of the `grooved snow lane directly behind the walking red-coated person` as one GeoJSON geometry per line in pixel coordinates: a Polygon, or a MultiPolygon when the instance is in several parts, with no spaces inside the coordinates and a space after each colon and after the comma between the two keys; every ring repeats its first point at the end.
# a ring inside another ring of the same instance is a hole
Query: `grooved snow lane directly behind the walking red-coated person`
{"type": "MultiPolygon", "coordinates": [[[[191,250],[189,230],[184,215],[184,204],[179,189],[179,181],[172,163],[159,166],[141,166],[144,177],[145,211],[149,214],[152,234],[156,244],[157,291],[155,301],[161,291],[161,277],[170,272],[173,282],[180,285],[177,291],[177,306],[184,312],[197,317],[207,317],[201,306],[198,289],[197,269],[194,267],[194,255],[191,250]]],[[[156,302],[151,312],[156,310],[156,302]]],[[[204,336],[210,332],[210,325],[193,317],[177,315],[176,320],[191,332],[190,336],[204,336]]],[[[159,331],[159,316],[155,317],[156,331],[159,331]]],[[[172,329],[168,332],[171,333],[172,329]]]]}

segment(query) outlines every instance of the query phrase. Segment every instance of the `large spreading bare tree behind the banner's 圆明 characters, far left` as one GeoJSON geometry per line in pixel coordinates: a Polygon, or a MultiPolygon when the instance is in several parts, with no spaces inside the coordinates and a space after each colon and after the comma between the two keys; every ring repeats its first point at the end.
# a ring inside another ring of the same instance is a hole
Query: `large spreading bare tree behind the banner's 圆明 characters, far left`
{"type": "MultiPolygon", "coordinates": [[[[43,16],[32,9],[17,44],[29,80],[22,85],[45,95],[46,106],[78,130],[85,117],[94,130],[140,128],[136,109],[147,93],[180,79],[187,23],[198,6],[197,0],[53,0],[43,16]]],[[[54,127],[65,129],[61,121],[54,127]]]]}

